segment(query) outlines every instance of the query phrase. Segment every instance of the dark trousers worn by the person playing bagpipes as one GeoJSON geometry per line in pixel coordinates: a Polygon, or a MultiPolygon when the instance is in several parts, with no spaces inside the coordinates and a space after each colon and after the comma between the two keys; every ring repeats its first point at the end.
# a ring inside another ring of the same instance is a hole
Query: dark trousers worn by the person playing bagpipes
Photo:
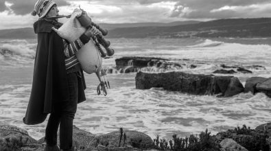
{"type": "Polygon", "coordinates": [[[70,100],[53,104],[53,109],[45,131],[45,141],[49,146],[57,143],[60,125],[60,149],[69,150],[73,146],[73,119],[78,104],[78,73],[67,73],[70,100]]]}

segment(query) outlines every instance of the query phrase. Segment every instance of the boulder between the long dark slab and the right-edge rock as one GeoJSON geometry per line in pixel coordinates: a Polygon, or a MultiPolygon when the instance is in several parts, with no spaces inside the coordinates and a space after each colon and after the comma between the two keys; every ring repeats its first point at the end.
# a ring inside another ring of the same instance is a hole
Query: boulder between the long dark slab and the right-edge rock
{"type": "Polygon", "coordinates": [[[253,94],[257,93],[256,85],[259,82],[263,82],[265,80],[267,80],[267,78],[263,78],[263,77],[248,78],[246,80],[244,92],[245,93],[252,92],[253,94]]]}

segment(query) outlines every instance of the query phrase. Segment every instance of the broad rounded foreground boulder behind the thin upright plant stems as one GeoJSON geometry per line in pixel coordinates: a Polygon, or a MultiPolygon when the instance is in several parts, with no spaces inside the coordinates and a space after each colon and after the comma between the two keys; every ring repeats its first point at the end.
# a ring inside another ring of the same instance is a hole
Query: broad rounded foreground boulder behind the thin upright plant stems
{"type": "MultiPolygon", "coordinates": [[[[123,137],[121,139],[121,146],[132,146],[133,148],[152,148],[153,141],[148,135],[143,132],[137,132],[134,130],[124,130],[126,133],[126,141],[123,144],[123,137]]],[[[108,148],[119,147],[121,133],[119,131],[110,132],[106,135],[98,135],[89,143],[88,148],[97,148],[102,145],[108,148]]]]}

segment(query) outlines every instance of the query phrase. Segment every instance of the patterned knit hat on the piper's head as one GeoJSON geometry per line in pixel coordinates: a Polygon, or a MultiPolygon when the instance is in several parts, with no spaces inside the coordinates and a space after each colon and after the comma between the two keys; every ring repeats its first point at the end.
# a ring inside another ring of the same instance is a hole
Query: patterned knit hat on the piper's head
{"type": "Polygon", "coordinates": [[[35,3],[34,11],[32,12],[32,15],[36,16],[36,14],[38,14],[40,18],[43,18],[49,12],[51,7],[55,4],[56,3],[51,0],[38,0],[35,3]]]}

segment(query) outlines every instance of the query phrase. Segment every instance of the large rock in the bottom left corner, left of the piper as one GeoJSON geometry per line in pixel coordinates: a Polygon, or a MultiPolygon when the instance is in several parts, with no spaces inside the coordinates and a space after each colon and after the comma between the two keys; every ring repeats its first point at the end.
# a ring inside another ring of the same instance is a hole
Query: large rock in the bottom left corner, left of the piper
{"type": "Polygon", "coordinates": [[[26,130],[16,126],[0,125],[0,150],[21,150],[23,146],[37,143],[26,130]]]}

